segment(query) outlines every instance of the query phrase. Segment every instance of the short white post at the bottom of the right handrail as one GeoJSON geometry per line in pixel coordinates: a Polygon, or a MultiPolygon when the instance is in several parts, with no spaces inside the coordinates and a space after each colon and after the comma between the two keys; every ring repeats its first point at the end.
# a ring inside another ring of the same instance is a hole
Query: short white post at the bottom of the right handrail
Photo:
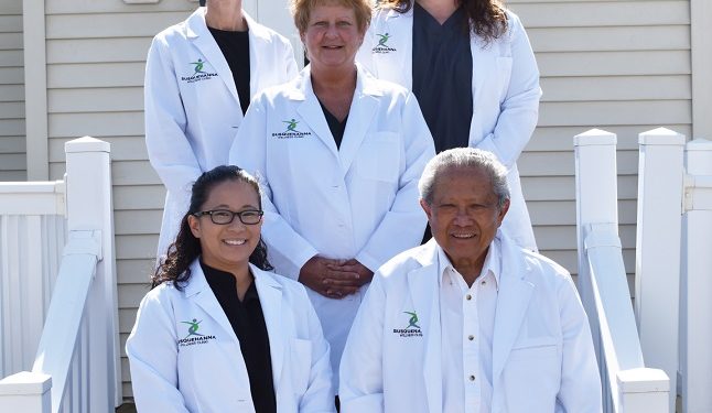
{"type": "Polygon", "coordinates": [[[666,413],[670,380],[659,369],[630,369],[619,371],[618,409],[624,413],[666,413]]]}

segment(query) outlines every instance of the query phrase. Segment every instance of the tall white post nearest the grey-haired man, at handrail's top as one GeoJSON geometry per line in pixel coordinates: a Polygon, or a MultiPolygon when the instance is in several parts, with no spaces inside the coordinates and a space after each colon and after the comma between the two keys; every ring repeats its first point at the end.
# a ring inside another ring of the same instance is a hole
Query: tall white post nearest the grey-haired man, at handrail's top
{"type": "Polygon", "coordinates": [[[598,360],[603,360],[600,332],[592,296],[584,240],[592,224],[618,225],[616,135],[591,129],[573,137],[576,176],[576,238],[579,250],[579,292],[589,313],[598,360]]]}

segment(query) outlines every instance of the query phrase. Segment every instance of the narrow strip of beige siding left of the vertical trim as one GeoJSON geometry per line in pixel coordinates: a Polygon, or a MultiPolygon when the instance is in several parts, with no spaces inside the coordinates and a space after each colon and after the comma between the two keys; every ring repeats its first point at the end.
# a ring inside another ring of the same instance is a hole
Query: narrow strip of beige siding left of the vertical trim
{"type": "Polygon", "coordinates": [[[0,2],[0,181],[26,178],[22,0],[0,2]]]}

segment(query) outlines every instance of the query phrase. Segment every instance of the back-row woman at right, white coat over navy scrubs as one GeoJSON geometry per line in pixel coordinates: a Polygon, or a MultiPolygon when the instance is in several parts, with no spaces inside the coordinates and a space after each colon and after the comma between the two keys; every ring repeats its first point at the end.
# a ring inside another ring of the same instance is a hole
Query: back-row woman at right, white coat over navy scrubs
{"type": "Polygon", "coordinates": [[[438,152],[497,155],[511,189],[501,230],[536,250],[517,159],[537,126],[541,90],[519,18],[498,0],[379,0],[356,59],[413,91],[438,152]]]}

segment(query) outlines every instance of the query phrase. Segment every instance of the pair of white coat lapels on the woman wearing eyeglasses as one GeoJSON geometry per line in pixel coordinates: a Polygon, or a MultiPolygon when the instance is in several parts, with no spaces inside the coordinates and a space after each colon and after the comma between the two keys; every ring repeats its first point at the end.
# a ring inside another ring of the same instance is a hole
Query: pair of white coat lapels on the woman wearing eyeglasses
{"type": "MultiPolygon", "coordinates": [[[[270,344],[270,357],[272,361],[273,382],[280,383],[282,367],[284,362],[285,335],[282,333],[282,285],[274,280],[273,275],[250,264],[250,271],[255,276],[255,286],[260,297],[265,325],[270,344]]],[[[233,330],[230,322],[227,319],[220,303],[213,294],[211,285],[205,279],[199,261],[195,260],[191,264],[191,278],[184,285],[185,297],[194,300],[195,303],[212,317],[227,334],[233,337],[236,345],[239,345],[237,336],[233,330]]]]}

